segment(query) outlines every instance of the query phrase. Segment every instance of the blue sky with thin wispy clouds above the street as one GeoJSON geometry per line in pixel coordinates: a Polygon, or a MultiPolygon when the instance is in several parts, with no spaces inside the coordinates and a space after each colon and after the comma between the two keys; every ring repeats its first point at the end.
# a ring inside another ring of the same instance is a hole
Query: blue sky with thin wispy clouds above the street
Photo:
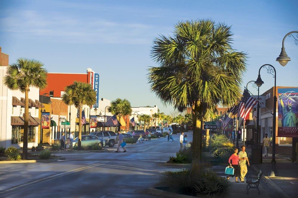
{"type": "MultiPolygon", "coordinates": [[[[298,46],[285,39],[291,58],[285,67],[279,56],[283,37],[298,31],[298,1],[23,1],[0,2],[0,46],[17,58],[34,58],[49,72],[100,75],[100,98],[128,99],[133,107],[154,106],[173,114],[151,93],[147,79],[153,40],[168,36],[183,20],[211,19],[232,26],[233,48],[248,53],[243,89],[256,80],[263,64],[276,69],[277,86],[298,86],[298,46]],[[124,86],[126,85],[126,86],[124,86]]],[[[295,34],[297,35],[297,34],[295,34]]],[[[297,38],[298,39],[298,38],[297,38]]],[[[274,86],[261,69],[263,93],[274,86]]],[[[257,90],[248,86],[253,94],[257,90]]]]}

